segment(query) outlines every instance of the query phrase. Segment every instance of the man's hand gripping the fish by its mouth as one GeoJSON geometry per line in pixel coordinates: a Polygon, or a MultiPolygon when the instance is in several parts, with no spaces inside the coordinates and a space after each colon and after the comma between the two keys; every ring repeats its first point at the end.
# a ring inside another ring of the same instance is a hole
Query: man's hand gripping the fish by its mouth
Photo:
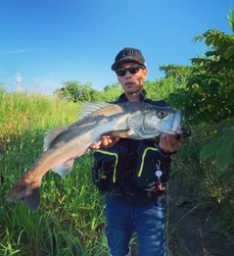
{"type": "Polygon", "coordinates": [[[182,138],[177,139],[174,135],[162,134],[160,136],[159,147],[165,153],[172,153],[180,149],[182,140],[183,140],[182,138]]]}

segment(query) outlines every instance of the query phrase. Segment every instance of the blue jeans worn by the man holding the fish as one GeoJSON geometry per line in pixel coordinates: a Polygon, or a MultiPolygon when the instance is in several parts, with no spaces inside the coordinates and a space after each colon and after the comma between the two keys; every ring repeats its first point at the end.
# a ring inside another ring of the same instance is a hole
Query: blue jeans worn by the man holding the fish
{"type": "Polygon", "coordinates": [[[164,198],[156,203],[129,206],[106,195],[106,235],[112,256],[129,252],[133,230],[139,239],[141,256],[165,256],[164,198]]]}

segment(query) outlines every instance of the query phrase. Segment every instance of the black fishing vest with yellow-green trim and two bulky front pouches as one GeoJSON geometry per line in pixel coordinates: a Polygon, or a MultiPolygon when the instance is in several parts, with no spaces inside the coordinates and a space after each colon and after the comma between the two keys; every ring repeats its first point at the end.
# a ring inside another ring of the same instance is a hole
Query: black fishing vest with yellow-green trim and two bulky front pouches
{"type": "MultiPolygon", "coordinates": [[[[167,106],[164,101],[145,99],[144,93],[142,101],[167,106]]],[[[126,101],[122,94],[114,103],[126,101]]],[[[161,198],[169,179],[171,158],[160,150],[158,144],[155,139],[120,138],[113,147],[95,150],[92,181],[100,193],[107,193],[117,201],[133,206],[161,198]]]]}

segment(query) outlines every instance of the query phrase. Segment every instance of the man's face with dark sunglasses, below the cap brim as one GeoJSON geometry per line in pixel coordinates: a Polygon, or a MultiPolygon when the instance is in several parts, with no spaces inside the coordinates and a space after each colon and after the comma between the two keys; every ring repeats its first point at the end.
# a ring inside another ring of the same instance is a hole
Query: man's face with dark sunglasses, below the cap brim
{"type": "MultiPolygon", "coordinates": [[[[140,65],[136,63],[124,63],[121,64],[117,69],[129,67],[137,68],[140,67],[140,65]]],[[[124,76],[117,76],[117,80],[121,84],[126,94],[134,94],[142,91],[143,89],[143,80],[147,77],[148,71],[147,69],[139,69],[139,71],[135,69],[135,72],[135,74],[131,74],[129,71],[126,71],[124,76]]]]}

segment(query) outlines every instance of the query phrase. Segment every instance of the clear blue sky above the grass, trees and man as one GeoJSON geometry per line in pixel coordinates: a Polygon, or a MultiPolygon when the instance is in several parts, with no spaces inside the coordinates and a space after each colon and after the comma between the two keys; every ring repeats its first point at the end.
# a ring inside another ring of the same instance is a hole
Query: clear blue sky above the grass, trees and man
{"type": "Polygon", "coordinates": [[[190,65],[210,28],[231,34],[233,0],[1,0],[0,82],[17,89],[53,91],[63,80],[117,82],[111,65],[119,50],[142,51],[149,80],[164,64],[190,65]]]}

